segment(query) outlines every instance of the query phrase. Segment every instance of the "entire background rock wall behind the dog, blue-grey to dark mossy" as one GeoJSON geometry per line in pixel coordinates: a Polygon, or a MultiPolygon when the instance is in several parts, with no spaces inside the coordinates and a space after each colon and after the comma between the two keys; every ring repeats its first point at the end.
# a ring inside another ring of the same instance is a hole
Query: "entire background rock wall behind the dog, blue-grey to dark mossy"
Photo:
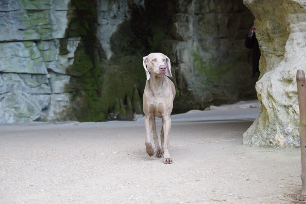
{"type": "Polygon", "coordinates": [[[253,18],[238,0],[0,0],[0,124],[132,120],[151,52],[172,62],[173,113],[256,98],[253,18]]]}

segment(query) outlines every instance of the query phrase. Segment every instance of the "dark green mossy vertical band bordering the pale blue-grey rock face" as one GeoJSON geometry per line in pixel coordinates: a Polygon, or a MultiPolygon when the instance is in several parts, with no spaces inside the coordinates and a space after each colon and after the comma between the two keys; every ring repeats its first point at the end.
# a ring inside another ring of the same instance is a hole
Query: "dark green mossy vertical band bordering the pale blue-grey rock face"
{"type": "MultiPolygon", "coordinates": [[[[66,69],[71,77],[65,91],[71,93],[73,113],[81,121],[105,121],[107,111],[103,111],[101,98],[101,69],[97,55],[98,41],[95,36],[97,29],[96,1],[71,0],[76,8],[65,37],[81,37],[74,53],[73,65],[66,69]],[[80,91],[75,91],[80,90],[80,91]]],[[[60,54],[67,54],[67,40],[60,40],[60,54]]]]}

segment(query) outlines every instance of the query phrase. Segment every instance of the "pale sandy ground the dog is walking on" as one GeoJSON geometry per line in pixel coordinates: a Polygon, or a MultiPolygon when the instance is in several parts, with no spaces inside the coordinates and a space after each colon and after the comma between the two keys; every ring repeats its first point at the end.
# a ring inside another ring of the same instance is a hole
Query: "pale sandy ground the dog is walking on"
{"type": "Polygon", "coordinates": [[[258,112],[171,116],[171,165],[147,155],[143,119],[0,125],[0,203],[291,203],[300,149],[242,145],[258,112]]]}

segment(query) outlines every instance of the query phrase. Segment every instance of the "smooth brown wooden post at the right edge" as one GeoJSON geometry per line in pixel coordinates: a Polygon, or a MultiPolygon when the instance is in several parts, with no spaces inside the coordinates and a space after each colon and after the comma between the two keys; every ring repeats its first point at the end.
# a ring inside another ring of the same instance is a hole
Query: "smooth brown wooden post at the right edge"
{"type": "Polygon", "coordinates": [[[301,143],[301,159],[302,159],[302,190],[300,198],[306,195],[306,83],[305,73],[303,70],[297,70],[297,95],[300,107],[300,143],[301,143]]]}

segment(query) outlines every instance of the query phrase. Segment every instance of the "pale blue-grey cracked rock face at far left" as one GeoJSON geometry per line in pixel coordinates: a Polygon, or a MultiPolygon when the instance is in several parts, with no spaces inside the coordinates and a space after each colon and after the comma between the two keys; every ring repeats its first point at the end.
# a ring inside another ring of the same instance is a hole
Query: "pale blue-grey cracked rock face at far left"
{"type": "MultiPolygon", "coordinates": [[[[59,55],[58,39],[64,37],[68,21],[65,3],[57,10],[30,1],[0,2],[0,123],[33,121],[43,110],[69,104],[67,95],[51,88],[51,78],[73,61],[72,51],[80,42],[69,38],[70,56],[59,55]]],[[[69,76],[63,78],[69,81],[69,76]]],[[[56,114],[50,112],[49,117],[56,114]]]]}

